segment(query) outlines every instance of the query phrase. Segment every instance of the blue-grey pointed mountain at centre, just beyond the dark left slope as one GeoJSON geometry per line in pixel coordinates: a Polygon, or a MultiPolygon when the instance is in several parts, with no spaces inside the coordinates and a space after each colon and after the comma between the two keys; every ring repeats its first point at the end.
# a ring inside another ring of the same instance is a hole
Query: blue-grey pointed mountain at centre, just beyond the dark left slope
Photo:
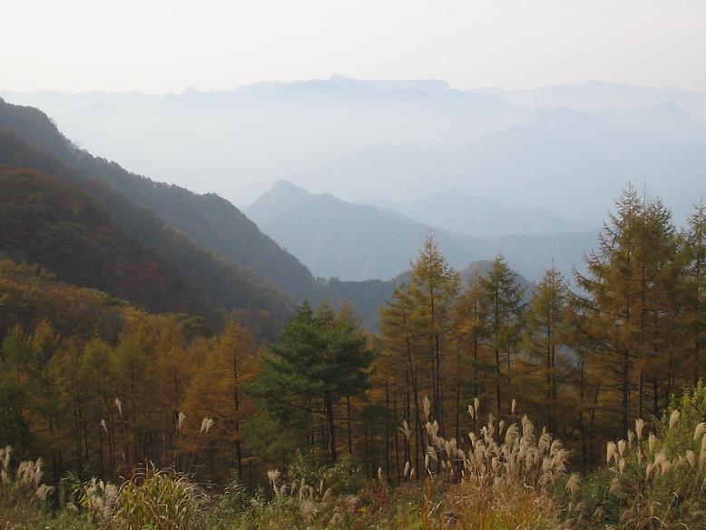
{"type": "MultiPolygon", "coordinates": [[[[390,211],[314,195],[278,182],[248,209],[250,218],[319,276],[388,279],[407,270],[428,229],[390,211]]],[[[454,263],[480,258],[441,238],[454,263]]]]}

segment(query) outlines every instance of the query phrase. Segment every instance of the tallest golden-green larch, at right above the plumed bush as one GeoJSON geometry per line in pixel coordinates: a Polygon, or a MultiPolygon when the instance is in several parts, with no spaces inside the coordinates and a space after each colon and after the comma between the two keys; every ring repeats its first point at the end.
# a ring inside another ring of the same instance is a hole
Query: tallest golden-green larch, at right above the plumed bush
{"type": "Polygon", "coordinates": [[[632,407],[642,416],[646,381],[652,381],[655,416],[674,388],[682,335],[681,241],[662,202],[629,186],[599,245],[585,258],[588,274],[575,274],[585,296],[576,298],[574,325],[578,348],[589,368],[602,374],[607,398],[619,397],[626,437],[632,407]]]}

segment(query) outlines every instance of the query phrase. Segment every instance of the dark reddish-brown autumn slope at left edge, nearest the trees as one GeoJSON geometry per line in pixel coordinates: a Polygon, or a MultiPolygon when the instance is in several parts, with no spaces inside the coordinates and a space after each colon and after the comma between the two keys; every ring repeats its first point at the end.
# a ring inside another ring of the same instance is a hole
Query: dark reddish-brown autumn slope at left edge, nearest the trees
{"type": "Polygon", "coordinates": [[[24,168],[0,168],[0,254],[155,311],[208,313],[170,264],[132,240],[99,201],[24,168]]]}

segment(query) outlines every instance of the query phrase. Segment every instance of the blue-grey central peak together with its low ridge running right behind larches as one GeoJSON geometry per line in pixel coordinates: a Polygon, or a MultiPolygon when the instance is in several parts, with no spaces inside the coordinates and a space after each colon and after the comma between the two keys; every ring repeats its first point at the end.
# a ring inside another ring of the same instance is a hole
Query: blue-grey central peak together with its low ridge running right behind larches
{"type": "MultiPolygon", "coordinates": [[[[430,227],[378,207],[309,193],[278,182],[246,212],[260,229],[315,274],[340,280],[389,279],[407,270],[430,227]]],[[[434,229],[439,249],[456,268],[504,252],[515,270],[539,279],[554,264],[570,273],[590,250],[595,232],[480,239],[434,229]]]]}

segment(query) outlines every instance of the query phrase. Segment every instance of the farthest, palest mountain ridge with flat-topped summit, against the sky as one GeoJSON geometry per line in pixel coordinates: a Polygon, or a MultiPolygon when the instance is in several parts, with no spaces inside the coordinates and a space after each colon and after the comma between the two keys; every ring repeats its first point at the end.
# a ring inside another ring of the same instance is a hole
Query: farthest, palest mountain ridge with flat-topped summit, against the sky
{"type": "Polygon", "coordinates": [[[42,108],[74,142],[135,172],[193,191],[217,191],[239,204],[264,191],[250,191],[257,182],[270,184],[371,144],[469,141],[534,116],[441,80],[341,75],[217,92],[0,91],[0,97],[42,108]]]}

